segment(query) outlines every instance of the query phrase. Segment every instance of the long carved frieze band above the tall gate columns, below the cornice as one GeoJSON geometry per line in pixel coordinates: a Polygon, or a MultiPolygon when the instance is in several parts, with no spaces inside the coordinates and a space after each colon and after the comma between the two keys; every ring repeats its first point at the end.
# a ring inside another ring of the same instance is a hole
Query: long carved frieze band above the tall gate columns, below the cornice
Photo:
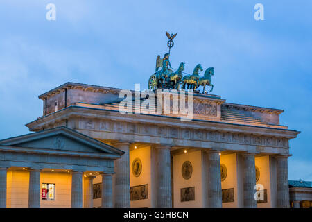
{"type": "MultiPolygon", "coordinates": [[[[96,121],[84,119],[82,123],[83,128],[85,129],[95,129],[96,121]]],[[[131,133],[137,135],[151,135],[178,139],[194,139],[208,142],[226,142],[232,144],[288,148],[288,140],[280,137],[265,137],[243,133],[230,133],[190,128],[169,128],[167,126],[124,123],[119,121],[101,121],[97,124],[97,126],[98,130],[112,131],[114,133],[131,133]]]]}

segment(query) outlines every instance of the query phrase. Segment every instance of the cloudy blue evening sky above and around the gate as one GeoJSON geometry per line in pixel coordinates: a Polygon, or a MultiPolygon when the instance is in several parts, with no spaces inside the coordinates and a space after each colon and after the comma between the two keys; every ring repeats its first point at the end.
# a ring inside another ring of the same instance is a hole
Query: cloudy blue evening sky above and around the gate
{"type": "Polygon", "coordinates": [[[281,125],[301,131],[289,179],[312,181],[311,10],[309,0],[1,0],[0,139],[29,133],[25,124],[42,116],[37,96],[63,83],[145,89],[168,31],[178,33],[175,69],[214,67],[213,94],[285,110],[281,125]],[[256,3],[264,20],[254,19],[256,3]]]}

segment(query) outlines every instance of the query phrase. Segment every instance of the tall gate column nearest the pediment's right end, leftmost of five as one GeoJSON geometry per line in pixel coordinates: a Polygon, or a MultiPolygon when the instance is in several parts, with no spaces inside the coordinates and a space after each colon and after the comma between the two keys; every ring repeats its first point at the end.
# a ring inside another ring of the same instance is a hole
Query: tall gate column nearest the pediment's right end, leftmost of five
{"type": "Polygon", "coordinates": [[[129,143],[114,144],[116,148],[124,151],[125,154],[115,161],[115,191],[114,200],[116,208],[130,207],[130,163],[129,163],[129,143]]]}

